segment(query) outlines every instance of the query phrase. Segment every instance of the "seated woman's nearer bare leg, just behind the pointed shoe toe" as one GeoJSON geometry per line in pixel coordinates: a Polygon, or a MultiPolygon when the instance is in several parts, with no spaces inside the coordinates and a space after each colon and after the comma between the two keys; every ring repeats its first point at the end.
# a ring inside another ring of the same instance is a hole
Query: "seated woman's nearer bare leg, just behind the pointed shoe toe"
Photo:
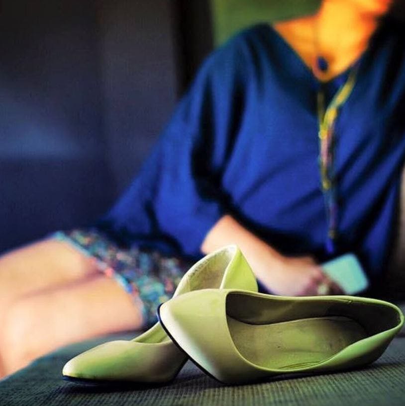
{"type": "Polygon", "coordinates": [[[61,345],[141,325],[140,309],[102,274],[28,294],[14,302],[4,318],[3,373],[10,374],[61,345]]]}

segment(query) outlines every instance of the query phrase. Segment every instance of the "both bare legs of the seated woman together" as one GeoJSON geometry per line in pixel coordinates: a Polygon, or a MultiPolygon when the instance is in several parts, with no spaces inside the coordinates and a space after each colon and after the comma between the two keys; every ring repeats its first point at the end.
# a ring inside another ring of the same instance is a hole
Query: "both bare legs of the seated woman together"
{"type": "Polygon", "coordinates": [[[138,310],[123,289],[101,276],[95,261],[68,243],[44,240],[0,256],[0,377],[58,345],[121,327],[134,328],[139,320],[138,310]],[[66,293],[71,303],[61,300],[60,292],[66,293]],[[59,299],[53,303],[56,297],[59,299]],[[52,329],[45,326],[39,332],[42,324],[48,324],[51,312],[55,317],[52,329]],[[118,317],[112,325],[105,319],[104,329],[96,324],[100,316],[104,321],[103,312],[118,317]],[[127,325],[126,316],[133,325],[127,325]],[[89,325],[84,323],[85,318],[89,325]],[[56,325],[57,320],[62,326],[56,325]],[[60,334],[65,330],[56,329],[63,326],[67,330],[64,337],[60,334]],[[36,343],[32,337],[36,337],[36,343]]]}

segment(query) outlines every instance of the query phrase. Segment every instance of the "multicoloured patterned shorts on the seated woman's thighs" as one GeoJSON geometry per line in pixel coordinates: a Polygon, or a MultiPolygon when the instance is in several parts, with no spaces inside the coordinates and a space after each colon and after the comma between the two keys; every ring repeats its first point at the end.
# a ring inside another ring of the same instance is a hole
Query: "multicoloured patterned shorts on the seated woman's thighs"
{"type": "Polygon", "coordinates": [[[119,247],[96,229],[58,231],[49,238],[68,242],[93,257],[98,269],[115,279],[140,306],[145,326],[157,321],[157,307],[172,297],[180,279],[192,266],[158,251],[119,247]]]}

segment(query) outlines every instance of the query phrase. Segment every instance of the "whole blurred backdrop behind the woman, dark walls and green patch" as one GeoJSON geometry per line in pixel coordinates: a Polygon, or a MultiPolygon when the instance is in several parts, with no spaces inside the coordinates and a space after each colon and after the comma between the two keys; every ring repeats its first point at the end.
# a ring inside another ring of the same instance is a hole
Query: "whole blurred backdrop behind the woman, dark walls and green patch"
{"type": "Polygon", "coordinates": [[[1,0],[0,252],[95,221],[215,46],[320,0],[280,4],[1,0]]]}

